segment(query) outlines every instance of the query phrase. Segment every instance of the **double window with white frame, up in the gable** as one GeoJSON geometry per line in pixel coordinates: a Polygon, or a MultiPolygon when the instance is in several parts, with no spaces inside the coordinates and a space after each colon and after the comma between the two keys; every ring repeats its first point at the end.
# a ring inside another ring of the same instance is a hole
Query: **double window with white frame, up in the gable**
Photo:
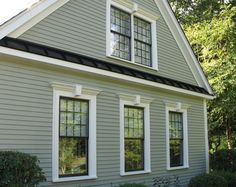
{"type": "Polygon", "coordinates": [[[136,3],[108,0],[106,55],[157,70],[156,20],[136,3]]]}

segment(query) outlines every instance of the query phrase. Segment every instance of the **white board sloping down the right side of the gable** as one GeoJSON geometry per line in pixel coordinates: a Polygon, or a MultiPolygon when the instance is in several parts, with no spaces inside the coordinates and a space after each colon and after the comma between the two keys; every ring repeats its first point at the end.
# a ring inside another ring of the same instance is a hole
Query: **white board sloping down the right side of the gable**
{"type": "Polygon", "coordinates": [[[193,73],[194,78],[196,79],[199,86],[204,87],[210,94],[213,94],[213,91],[200,67],[196,56],[193,53],[193,50],[183,33],[171,7],[169,6],[166,0],[154,0],[157,7],[159,8],[163,18],[165,19],[172,35],[174,36],[187,64],[189,65],[190,70],[193,73]]]}

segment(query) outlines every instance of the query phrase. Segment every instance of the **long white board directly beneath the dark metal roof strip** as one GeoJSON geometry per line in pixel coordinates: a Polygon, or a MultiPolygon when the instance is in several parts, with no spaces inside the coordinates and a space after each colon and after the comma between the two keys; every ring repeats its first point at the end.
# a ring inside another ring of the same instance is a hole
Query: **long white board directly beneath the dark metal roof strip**
{"type": "Polygon", "coordinates": [[[140,79],[140,78],[136,78],[136,77],[131,77],[128,75],[122,75],[119,73],[114,73],[114,72],[110,72],[110,71],[106,71],[106,70],[102,70],[102,69],[97,69],[97,68],[93,68],[93,67],[89,67],[89,66],[85,66],[85,65],[75,64],[75,63],[71,63],[71,62],[68,62],[65,60],[59,60],[59,59],[45,57],[45,56],[41,56],[41,55],[37,55],[37,54],[32,54],[29,52],[10,49],[7,47],[0,47],[0,55],[19,57],[19,58],[39,62],[39,63],[56,65],[56,66],[65,67],[65,68],[69,68],[69,69],[73,69],[73,70],[79,70],[79,71],[86,72],[86,73],[93,73],[95,75],[106,76],[106,77],[114,78],[117,80],[123,80],[123,81],[141,84],[141,85],[145,85],[145,86],[156,87],[156,88],[174,91],[174,92],[187,94],[187,95],[191,95],[191,96],[196,96],[196,97],[200,97],[200,98],[205,98],[205,99],[214,99],[215,98],[214,96],[207,95],[207,94],[197,93],[197,92],[185,90],[182,88],[176,88],[173,86],[168,86],[168,85],[160,84],[160,83],[153,82],[153,81],[148,81],[148,80],[144,80],[144,79],[140,79]]]}

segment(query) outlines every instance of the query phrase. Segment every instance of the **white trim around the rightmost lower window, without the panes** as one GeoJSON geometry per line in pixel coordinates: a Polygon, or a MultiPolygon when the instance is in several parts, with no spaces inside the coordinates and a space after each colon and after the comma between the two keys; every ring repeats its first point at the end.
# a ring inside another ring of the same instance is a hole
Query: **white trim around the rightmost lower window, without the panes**
{"type": "MultiPolygon", "coordinates": [[[[171,104],[173,102],[170,102],[171,104]]],[[[188,154],[188,125],[187,125],[187,108],[178,108],[176,102],[175,107],[170,107],[171,104],[166,104],[166,168],[167,170],[178,170],[189,168],[189,154],[188,154]],[[183,166],[170,167],[170,144],[169,144],[169,112],[180,112],[183,115],[183,166]]],[[[182,105],[182,104],[181,104],[182,105]]],[[[184,105],[183,105],[184,106],[184,105]]],[[[187,105],[185,105],[187,106],[187,105]]]]}

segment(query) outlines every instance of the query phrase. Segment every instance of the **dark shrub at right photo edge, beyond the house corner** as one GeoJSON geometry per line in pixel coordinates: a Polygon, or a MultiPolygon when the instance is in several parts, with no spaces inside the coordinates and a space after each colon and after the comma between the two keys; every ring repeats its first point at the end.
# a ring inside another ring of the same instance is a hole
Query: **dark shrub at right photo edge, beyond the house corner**
{"type": "Polygon", "coordinates": [[[212,170],[236,172],[236,150],[223,149],[211,155],[212,170]]]}

